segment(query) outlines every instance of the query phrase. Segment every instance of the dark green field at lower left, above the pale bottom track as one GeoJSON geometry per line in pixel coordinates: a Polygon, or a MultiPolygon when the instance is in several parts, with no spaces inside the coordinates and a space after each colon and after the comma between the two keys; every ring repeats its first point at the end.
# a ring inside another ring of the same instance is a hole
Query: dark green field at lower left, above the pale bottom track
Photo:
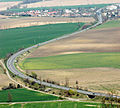
{"type": "Polygon", "coordinates": [[[0,102],[8,102],[8,93],[11,94],[12,102],[48,101],[59,99],[56,96],[27,89],[9,89],[0,91],[0,102]]]}

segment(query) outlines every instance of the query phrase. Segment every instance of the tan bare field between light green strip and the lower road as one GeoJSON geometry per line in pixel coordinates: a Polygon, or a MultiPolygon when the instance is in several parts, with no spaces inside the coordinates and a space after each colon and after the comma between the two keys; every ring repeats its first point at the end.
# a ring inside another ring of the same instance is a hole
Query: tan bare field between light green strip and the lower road
{"type": "Polygon", "coordinates": [[[60,70],[29,70],[36,72],[38,77],[49,79],[65,84],[66,78],[69,79],[70,86],[76,86],[76,80],[79,86],[89,88],[90,90],[102,91],[104,88],[115,88],[120,90],[120,69],[114,68],[87,68],[87,69],[60,69],[60,70]],[[111,86],[112,85],[112,86],[111,86]]]}

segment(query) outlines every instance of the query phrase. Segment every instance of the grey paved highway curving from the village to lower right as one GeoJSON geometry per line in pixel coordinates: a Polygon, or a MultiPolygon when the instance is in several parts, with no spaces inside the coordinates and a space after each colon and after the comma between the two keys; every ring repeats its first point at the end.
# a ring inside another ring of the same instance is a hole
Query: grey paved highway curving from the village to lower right
{"type": "MultiPolygon", "coordinates": [[[[26,51],[29,51],[33,48],[36,48],[38,46],[42,46],[42,45],[45,45],[45,44],[48,44],[50,42],[54,42],[56,40],[60,40],[60,39],[63,39],[63,38],[67,38],[67,37],[70,37],[72,35],[75,35],[75,34],[78,34],[80,32],[85,32],[91,28],[94,28],[96,26],[98,26],[99,24],[102,24],[102,15],[101,15],[101,9],[97,10],[97,18],[98,18],[98,22],[91,26],[91,27],[88,27],[84,30],[81,30],[81,31],[77,31],[77,32],[74,32],[72,34],[68,34],[68,35],[64,35],[62,37],[59,37],[59,38],[56,38],[56,39],[52,39],[52,40],[49,40],[49,41],[46,41],[46,42],[43,42],[43,43],[39,43],[37,45],[34,45],[34,46],[31,46],[29,48],[26,48],[24,50],[21,50],[17,53],[15,53],[14,55],[12,55],[8,60],[7,60],[7,68],[15,75],[23,78],[23,79],[28,79],[28,80],[33,80],[35,81],[36,83],[39,83],[39,84],[42,84],[42,85],[45,85],[45,86],[48,86],[48,87],[53,87],[53,88],[57,88],[57,89],[62,89],[62,90],[70,90],[71,88],[69,87],[64,87],[64,86],[59,86],[59,85],[55,85],[55,84],[51,84],[51,83],[47,83],[47,82],[41,82],[39,80],[36,80],[36,79],[33,79],[29,76],[26,76],[24,75],[23,73],[21,73],[19,70],[16,69],[16,67],[14,66],[14,63],[15,63],[15,60],[18,56],[20,56],[21,54],[25,53],[26,51]]],[[[76,89],[73,89],[73,90],[76,90],[76,89]]],[[[104,94],[104,93],[94,93],[94,92],[90,92],[90,91],[84,91],[84,90],[76,90],[78,93],[82,93],[82,94],[86,94],[86,95],[94,95],[94,96],[105,96],[105,97],[111,97],[110,95],[108,94],[104,94]]],[[[120,98],[120,96],[112,96],[112,97],[117,97],[117,98],[120,98]]]]}

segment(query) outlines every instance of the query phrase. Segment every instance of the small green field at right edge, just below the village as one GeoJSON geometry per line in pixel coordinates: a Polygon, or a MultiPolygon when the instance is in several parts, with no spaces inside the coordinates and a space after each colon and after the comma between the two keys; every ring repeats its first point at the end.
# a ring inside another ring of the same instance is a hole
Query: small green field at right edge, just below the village
{"type": "Polygon", "coordinates": [[[120,20],[112,20],[108,21],[100,26],[97,26],[94,29],[101,29],[101,28],[112,28],[112,27],[120,27],[120,20]]]}

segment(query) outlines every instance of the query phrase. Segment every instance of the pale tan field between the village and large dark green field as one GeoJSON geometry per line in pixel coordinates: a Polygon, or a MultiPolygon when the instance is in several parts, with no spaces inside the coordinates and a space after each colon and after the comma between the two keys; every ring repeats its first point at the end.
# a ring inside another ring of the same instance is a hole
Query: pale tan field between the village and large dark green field
{"type": "Polygon", "coordinates": [[[94,22],[95,19],[92,17],[86,18],[50,18],[50,17],[24,17],[24,18],[12,18],[12,19],[1,19],[0,29],[16,28],[16,27],[28,27],[35,25],[45,25],[45,24],[56,24],[56,23],[76,23],[94,22]]]}

